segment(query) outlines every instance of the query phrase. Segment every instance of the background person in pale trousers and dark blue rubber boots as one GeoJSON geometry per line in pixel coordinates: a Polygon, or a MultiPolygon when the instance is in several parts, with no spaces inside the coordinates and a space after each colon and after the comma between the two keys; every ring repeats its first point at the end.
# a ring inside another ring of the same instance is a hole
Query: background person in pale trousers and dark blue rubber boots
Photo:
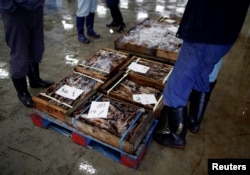
{"type": "Polygon", "coordinates": [[[89,39],[84,35],[84,23],[86,19],[87,35],[93,38],[101,36],[94,31],[95,11],[97,8],[97,0],[77,0],[76,11],[76,27],[78,40],[84,44],[90,43],[89,39]]]}

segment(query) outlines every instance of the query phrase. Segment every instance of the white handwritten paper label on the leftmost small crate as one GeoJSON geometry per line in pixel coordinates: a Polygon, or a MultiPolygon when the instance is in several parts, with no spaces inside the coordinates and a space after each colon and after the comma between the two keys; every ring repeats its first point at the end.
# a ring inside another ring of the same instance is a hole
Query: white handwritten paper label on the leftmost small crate
{"type": "Polygon", "coordinates": [[[77,97],[79,97],[82,93],[83,90],[68,85],[64,85],[56,91],[56,94],[71,100],[77,99],[77,97]]]}

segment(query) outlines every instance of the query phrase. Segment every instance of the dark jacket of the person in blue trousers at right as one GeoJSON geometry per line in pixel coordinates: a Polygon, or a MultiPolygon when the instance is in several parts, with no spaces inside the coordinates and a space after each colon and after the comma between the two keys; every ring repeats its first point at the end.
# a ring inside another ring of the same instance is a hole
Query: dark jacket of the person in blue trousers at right
{"type": "Polygon", "coordinates": [[[207,44],[236,41],[250,0],[189,0],[177,37],[207,44]]]}

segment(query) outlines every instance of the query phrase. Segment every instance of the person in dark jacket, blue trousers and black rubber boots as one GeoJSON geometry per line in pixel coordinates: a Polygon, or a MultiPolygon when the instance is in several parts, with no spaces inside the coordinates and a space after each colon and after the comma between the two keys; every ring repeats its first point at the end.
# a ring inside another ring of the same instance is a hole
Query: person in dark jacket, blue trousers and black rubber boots
{"type": "Polygon", "coordinates": [[[209,75],[237,40],[249,3],[250,0],[188,0],[177,31],[183,45],[163,90],[164,108],[154,134],[159,144],[185,147],[189,96],[192,91],[210,91],[209,75]]]}

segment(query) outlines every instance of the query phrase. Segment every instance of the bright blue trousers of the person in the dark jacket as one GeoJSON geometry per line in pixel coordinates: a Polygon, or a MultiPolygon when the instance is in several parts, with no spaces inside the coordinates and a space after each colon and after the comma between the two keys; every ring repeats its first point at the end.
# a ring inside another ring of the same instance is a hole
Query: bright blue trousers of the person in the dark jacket
{"type": "Polygon", "coordinates": [[[209,75],[233,44],[214,45],[183,42],[181,51],[163,90],[164,104],[184,107],[192,89],[208,92],[209,75]]]}

